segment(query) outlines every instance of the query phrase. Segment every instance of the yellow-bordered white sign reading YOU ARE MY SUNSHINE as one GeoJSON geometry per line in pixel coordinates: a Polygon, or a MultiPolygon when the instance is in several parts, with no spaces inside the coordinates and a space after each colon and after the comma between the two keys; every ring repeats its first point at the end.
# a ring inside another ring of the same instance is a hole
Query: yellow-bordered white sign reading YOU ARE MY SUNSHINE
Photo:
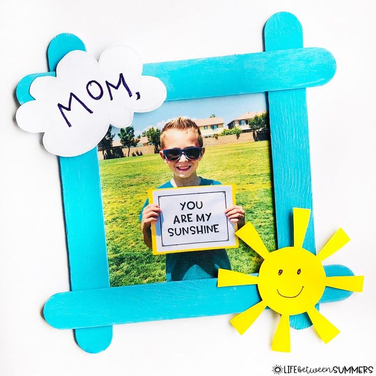
{"type": "Polygon", "coordinates": [[[234,205],[232,185],[150,191],[161,214],[152,227],[153,253],[238,247],[236,226],[225,209],[234,205]]]}

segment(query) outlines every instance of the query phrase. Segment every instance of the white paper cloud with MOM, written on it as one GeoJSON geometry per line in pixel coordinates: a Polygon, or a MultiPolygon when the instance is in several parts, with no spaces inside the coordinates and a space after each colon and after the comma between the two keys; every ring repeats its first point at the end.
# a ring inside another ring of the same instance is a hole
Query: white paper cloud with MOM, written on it
{"type": "Polygon", "coordinates": [[[36,78],[30,86],[35,101],[20,106],[18,126],[44,132],[52,154],[72,157],[94,148],[112,124],[128,127],[134,112],[158,108],[166,87],[156,77],[142,76],[137,53],[125,45],[106,49],[99,61],[83,51],[60,60],[56,77],[36,78]]]}

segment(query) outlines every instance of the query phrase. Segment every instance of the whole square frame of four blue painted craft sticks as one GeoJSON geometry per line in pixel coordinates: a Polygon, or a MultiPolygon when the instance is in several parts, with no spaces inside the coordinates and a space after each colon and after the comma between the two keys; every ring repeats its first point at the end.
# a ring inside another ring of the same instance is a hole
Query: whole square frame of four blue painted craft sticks
{"type": "MultiPolygon", "coordinates": [[[[264,52],[144,64],[143,75],[165,84],[166,101],[267,93],[277,244],[282,248],[293,241],[293,207],[313,210],[306,88],[330,81],[336,62],[325,49],[303,48],[302,27],[293,14],[272,15],[264,38],[264,52]]],[[[56,36],[48,48],[50,71],[19,82],[19,103],[32,101],[33,80],[55,76],[58,62],[74,50],[85,51],[77,36],[56,36]]],[[[116,324],[239,313],[260,300],[254,285],[217,288],[216,278],[110,287],[97,147],[59,157],[59,163],[70,291],[50,297],[43,314],[51,326],[73,329],[83,350],[106,349],[116,324]]],[[[312,216],[303,246],[316,252],[312,216]]],[[[341,265],[324,270],[326,276],[353,275],[341,265]]],[[[326,287],[319,302],[350,294],[326,287]]],[[[290,317],[290,325],[301,329],[311,321],[307,314],[299,314],[290,317]]]]}

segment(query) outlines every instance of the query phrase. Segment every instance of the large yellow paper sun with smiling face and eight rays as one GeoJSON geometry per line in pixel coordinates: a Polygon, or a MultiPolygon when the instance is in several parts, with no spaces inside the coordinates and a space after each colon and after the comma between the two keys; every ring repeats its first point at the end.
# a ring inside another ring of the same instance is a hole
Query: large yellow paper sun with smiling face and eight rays
{"type": "Polygon", "coordinates": [[[247,223],[236,234],[263,257],[259,276],[226,269],[218,273],[218,287],[257,285],[259,290],[261,301],[230,320],[240,334],[266,307],[281,315],[272,342],[275,351],[290,352],[289,319],[303,312],[307,312],[319,337],[325,343],[331,341],[339,330],[315,308],[325,287],[356,292],[363,289],[363,276],[327,277],[321,264],[350,240],[341,228],[317,255],[302,248],[310,213],[309,209],[293,209],[294,246],[274,252],[267,250],[256,229],[247,223]]]}

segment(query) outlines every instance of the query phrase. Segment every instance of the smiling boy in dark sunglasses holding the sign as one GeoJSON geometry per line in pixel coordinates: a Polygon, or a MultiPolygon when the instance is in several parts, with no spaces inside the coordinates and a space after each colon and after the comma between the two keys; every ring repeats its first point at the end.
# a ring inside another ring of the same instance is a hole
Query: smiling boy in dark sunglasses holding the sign
{"type": "MultiPolygon", "coordinates": [[[[172,171],[173,178],[158,188],[221,184],[219,181],[197,176],[196,170],[205,148],[203,148],[200,129],[194,121],[177,117],[167,123],[160,135],[160,148],[159,154],[172,171]]],[[[157,221],[160,213],[161,209],[158,205],[149,204],[148,200],[145,202],[141,229],[144,242],[150,249],[152,248],[150,226],[152,222],[157,221]]],[[[242,206],[228,207],[224,214],[231,222],[238,222],[238,228],[244,225],[242,206]]],[[[216,278],[219,268],[231,269],[224,249],[166,254],[168,281],[216,278]]]]}

